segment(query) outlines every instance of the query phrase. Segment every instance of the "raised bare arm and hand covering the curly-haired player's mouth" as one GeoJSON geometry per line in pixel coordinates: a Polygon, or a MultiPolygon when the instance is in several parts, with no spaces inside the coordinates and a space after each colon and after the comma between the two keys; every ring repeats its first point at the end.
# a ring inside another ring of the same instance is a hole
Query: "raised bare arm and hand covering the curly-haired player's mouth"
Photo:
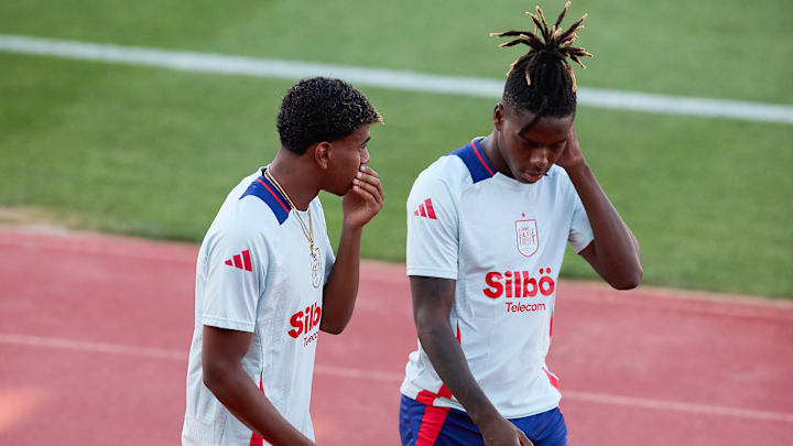
{"type": "Polygon", "coordinates": [[[323,331],[337,335],[345,329],[352,317],[358,295],[363,226],[380,211],[383,199],[380,175],[371,167],[361,165],[352,187],[341,198],[344,211],[341,240],[336,252],[336,262],[325,283],[323,318],[319,324],[319,329],[323,331]]]}

